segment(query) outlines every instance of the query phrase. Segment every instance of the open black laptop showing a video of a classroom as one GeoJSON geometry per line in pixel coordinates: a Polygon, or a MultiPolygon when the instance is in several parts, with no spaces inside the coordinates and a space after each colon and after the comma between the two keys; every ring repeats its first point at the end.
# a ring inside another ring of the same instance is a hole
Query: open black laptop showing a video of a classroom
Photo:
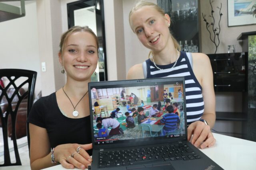
{"type": "Polygon", "coordinates": [[[184,78],[91,82],[88,86],[93,145],[92,170],[222,169],[187,141],[184,78]],[[183,92],[182,96],[178,95],[179,89],[183,92]],[[168,129],[168,124],[162,124],[160,120],[166,114],[170,114],[166,111],[163,111],[161,116],[151,117],[142,123],[138,123],[136,116],[133,118],[135,126],[127,127],[125,112],[128,111],[126,104],[130,99],[126,98],[126,95],[134,97],[131,108],[138,109],[142,106],[143,100],[144,114],[148,116],[153,104],[160,101],[164,106],[164,90],[173,94],[171,103],[177,102],[180,106],[179,121],[172,122],[172,130],[164,130],[168,129]],[[122,91],[125,94],[124,98],[120,96],[122,91]],[[100,112],[95,113],[95,102],[98,102],[100,112]],[[117,107],[122,113],[109,118],[110,113],[117,107]],[[102,117],[102,123],[99,125],[96,122],[97,117],[102,117]],[[106,120],[103,121],[104,119],[106,120]],[[110,133],[111,129],[113,131],[110,133]]]}

